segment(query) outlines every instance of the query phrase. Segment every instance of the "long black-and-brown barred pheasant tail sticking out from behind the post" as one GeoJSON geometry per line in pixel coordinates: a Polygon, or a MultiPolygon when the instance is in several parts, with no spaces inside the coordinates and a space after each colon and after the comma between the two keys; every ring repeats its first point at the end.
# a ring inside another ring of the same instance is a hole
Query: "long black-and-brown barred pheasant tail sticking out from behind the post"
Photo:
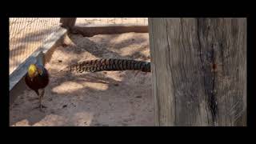
{"type": "Polygon", "coordinates": [[[84,62],[78,62],[67,66],[65,70],[70,72],[97,72],[97,71],[115,71],[115,70],[141,70],[150,72],[150,62],[142,62],[128,59],[95,59],[84,62]]]}

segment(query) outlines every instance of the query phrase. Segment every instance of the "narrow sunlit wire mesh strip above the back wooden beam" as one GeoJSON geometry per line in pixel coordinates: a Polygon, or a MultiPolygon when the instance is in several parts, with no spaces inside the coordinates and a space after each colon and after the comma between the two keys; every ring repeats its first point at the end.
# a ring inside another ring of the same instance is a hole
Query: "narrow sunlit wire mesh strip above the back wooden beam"
{"type": "Polygon", "coordinates": [[[134,24],[147,26],[147,18],[77,18],[76,24],[134,24]]]}

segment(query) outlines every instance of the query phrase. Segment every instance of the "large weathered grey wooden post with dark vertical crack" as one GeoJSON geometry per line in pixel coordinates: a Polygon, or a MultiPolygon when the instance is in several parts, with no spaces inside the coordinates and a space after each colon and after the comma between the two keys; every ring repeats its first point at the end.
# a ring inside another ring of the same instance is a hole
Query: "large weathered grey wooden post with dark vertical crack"
{"type": "Polygon", "coordinates": [[[156,126],[246,126],[246,18],[149,18],[156,126]]]}

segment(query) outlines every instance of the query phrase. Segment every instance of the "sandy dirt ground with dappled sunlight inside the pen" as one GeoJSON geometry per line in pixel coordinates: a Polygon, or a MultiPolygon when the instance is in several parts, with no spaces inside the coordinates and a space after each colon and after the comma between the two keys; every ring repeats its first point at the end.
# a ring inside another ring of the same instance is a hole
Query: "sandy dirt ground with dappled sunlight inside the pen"
{"type": "Polygon", "coordinates": [[[151,74],[102,71],[68,74],[69,63],[95,58],[126,58],[150,62],[148,34],[70,35],[58,46],[46,69],[41,112],[33,90],[23,91],[10,108],[10,126],[154,126],[151,74]]]}

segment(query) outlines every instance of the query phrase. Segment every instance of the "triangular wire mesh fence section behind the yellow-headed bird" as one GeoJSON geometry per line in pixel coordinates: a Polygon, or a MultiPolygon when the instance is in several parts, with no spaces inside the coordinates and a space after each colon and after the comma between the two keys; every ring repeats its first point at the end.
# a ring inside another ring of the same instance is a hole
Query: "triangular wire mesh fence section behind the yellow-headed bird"
{"type": "Polygon", "coordinates": [[[10,18],[9,50],[11,74],[50,34],[59,27],[59,18],[10,18]]]}

